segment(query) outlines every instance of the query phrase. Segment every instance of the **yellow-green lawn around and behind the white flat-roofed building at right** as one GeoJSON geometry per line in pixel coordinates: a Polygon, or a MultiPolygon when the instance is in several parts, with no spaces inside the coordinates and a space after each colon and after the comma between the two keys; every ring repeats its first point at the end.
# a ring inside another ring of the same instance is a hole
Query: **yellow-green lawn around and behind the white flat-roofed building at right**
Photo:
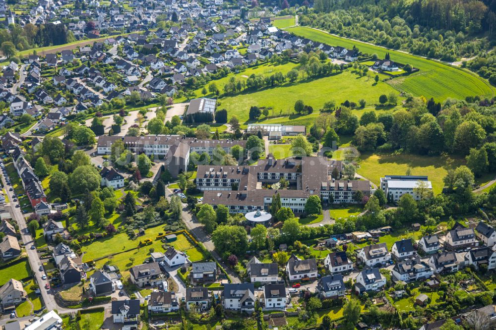
{"type": "MultiPolygon", "coordinates": [[[[442,156],[362,154],[357,173],[378,185],[384,175],[404,175],[410,168],[412,175],[429,176],[434,194],[437,195],[444,187],[442,179],[447,171],[464,164],[464,159],[442,156]]],[[[488,176],[476,179],[476,182],[487,181],[488,176]]]]}

